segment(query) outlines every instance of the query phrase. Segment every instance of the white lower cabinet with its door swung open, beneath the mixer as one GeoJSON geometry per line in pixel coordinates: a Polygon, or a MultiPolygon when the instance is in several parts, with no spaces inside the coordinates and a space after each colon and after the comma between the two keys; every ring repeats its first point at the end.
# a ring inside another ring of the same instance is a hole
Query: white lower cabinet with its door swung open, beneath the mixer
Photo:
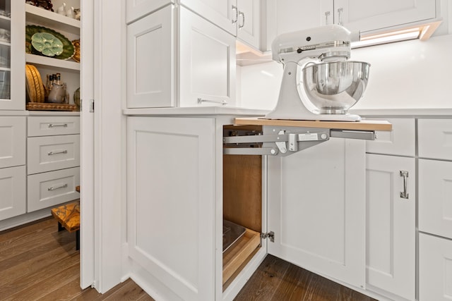
{"type": "Polygon", "coordinates": [[[165,300],[233,300],[268,252],[364,288],[364,142],[332,138],[284,158],[246,159],[223,155],[231,123],[127,118],[131,278],[165,300]],[[224,219],[246,228],[243,247],[223,248],[224,219]]]}

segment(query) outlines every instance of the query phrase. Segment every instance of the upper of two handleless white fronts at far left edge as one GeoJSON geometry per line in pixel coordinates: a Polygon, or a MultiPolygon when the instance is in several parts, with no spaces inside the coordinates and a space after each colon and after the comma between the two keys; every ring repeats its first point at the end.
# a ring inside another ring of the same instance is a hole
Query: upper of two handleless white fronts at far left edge
{"type": "Polygon", "coordinates": [[[0,117],[0,168],[25,165],[26,117],[0,117]]]}

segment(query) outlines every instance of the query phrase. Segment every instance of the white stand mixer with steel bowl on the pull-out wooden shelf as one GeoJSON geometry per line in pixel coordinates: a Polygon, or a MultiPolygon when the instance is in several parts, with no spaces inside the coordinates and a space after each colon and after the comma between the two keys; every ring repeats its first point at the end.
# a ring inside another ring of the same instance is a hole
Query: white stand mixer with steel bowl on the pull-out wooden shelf
{"type": "Polygon", "coordinates": [[[350,42],[358,39],[359,33],[352,34],[340,25],[276,37],[272,58],[284,65],[283,81],[278,104],[265,118],[360,121],[360,116],[347,113],[347,109],[362,97],[369,73],[368,63],[346,61],[350,59],[350,42]],[[315,68],[320,66],[321,71],[310,70],[307,75],[305,69],[313,65],[315,68]],[[298,71],[303,67],[304,80],[299,85],[298,71]],[[310,82],[309,89],[307,81],[310,82]]]}

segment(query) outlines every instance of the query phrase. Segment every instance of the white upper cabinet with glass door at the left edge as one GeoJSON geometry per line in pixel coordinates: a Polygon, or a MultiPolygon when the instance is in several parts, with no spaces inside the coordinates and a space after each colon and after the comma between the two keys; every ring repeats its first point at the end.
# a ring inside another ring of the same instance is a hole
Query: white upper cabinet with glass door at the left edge
{"type": "Polygon", "coordinates": [[[0,0],[0,110],[24,110],[23,2],[0,0]]]}

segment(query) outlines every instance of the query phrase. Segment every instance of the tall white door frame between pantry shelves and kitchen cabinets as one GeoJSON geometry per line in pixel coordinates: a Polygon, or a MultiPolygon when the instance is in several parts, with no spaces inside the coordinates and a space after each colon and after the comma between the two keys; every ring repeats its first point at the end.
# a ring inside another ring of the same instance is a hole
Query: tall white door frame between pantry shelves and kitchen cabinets
{"type": "Polygon", "coordinates": [[[129,275],[126,245],[125,1],[81,0],[81,287],[105,293],[129,275]],[[95,100],[90,112],[90,99],[95,100]]]}

